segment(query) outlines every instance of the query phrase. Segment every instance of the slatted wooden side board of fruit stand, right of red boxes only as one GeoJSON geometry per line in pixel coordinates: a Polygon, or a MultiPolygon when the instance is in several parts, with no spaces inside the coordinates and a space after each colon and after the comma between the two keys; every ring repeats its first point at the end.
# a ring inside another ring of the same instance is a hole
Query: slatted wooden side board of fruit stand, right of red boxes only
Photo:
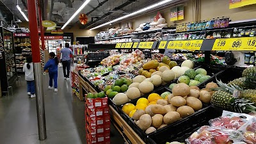
{"type": "Polygon", "coordinates": [[[132,130],[132,128],[125,122],[125,120],[116,112],[116,110],[109,105],[109,110],[111,111],[110,115],[113,117],[114,125],[116,129],[120,132],[120,134],[124,135],[124,137],[127,137],[129,141],[131,141],[132,144],[145,144],[143,140],[141,140],[140,136],[136,134],[132,130]],[[119,127],[118,127],[118,126],[119,127]],[[120,129],[121,128],[121,129],[120,129]]]}

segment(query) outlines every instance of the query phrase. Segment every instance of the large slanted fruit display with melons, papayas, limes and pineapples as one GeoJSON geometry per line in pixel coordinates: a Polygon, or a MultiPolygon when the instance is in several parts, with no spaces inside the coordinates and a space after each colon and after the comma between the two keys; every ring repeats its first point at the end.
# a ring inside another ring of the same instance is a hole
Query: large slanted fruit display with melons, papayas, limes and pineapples
{"type": "MultiPolygon", "coordinates": [[[[164,144],[168,141],[185,142],[186,139],[187,143],[198,143],[202,136],[194,135],[214,129],[203,126],[209,125],[209,120],[222,116],[223,109],[236,113],[249,113],[256,109],[253,106],[256,102],[255,67],[244,70],[223,65],[195,66],[191,60],[177,65],[164,56],[141,64],[138,76],[115,72],[115,68],[112,70],[106,76],[95,73],[95,69],[82,70],[79,84],[85,93],[107,95],[111,120],[131,143],[164,144]]],[[[221,127],[213,131],[230,130],[221,127]]],[[[230,139],[228,135],[225,140],[227,143],[248,140],[248,133],[237,140],[230,139]]],[[[210,139],[214,138],[215,141],[209,140],[209,143],[225,141],[216,135],[210,139]]]]}

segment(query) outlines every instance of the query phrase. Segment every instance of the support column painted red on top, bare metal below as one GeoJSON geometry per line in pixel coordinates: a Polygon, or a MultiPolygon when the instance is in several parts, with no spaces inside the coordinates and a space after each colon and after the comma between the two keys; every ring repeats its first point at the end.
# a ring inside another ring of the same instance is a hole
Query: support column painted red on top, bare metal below
{"type": "Polygon", "coordinates": [[[36,0],[28,0],[29,30],[31,39],[32,58],[36,81],[36,112],[39,140],[46,139],[44,89],[42,79],[42,65],[40,61],[40,48],[38,36],[38,21],[36,17],[36,0]]]}

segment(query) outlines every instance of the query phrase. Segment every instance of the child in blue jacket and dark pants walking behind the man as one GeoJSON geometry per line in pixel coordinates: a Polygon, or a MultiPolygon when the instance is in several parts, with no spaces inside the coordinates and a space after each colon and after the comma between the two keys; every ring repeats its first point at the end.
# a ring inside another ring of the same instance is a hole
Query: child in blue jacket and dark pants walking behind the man
{"type": "Polygon", "coordinates": [[[57,79],[58,79],[58,58],[55,56],[54,52],[49,53],[50,60],[47,61],[47,63],[44,66],[44,72],[45,70],[49,70],[49,90],[52,90],[52,79],[54,81],[54,92],[58,92],[57,89],[57,79]]]}

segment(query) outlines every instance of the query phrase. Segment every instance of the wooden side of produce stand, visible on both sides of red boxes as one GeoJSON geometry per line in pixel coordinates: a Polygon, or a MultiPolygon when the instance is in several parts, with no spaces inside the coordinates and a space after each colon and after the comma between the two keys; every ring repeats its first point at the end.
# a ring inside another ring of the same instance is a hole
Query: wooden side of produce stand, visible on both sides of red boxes
{"type": "MultiPolygon", "coordinates": [[[[79,92],[80,92],[80,100],[84,100],[84,94],[86,93],[97,93],[97,88],[94,88],[88,81],[84,80],[84,77],[79,75],[79,92]]],[[[116,129],[122,134],[125,142],[127,143],[138,143],[145,144],[143,140],[141,140],[140,136],[133,131],[133,129],[125,122],[125,120],[118,114],[118,112],[109,105],[111,122],[115,125],[116,129]]]]}

